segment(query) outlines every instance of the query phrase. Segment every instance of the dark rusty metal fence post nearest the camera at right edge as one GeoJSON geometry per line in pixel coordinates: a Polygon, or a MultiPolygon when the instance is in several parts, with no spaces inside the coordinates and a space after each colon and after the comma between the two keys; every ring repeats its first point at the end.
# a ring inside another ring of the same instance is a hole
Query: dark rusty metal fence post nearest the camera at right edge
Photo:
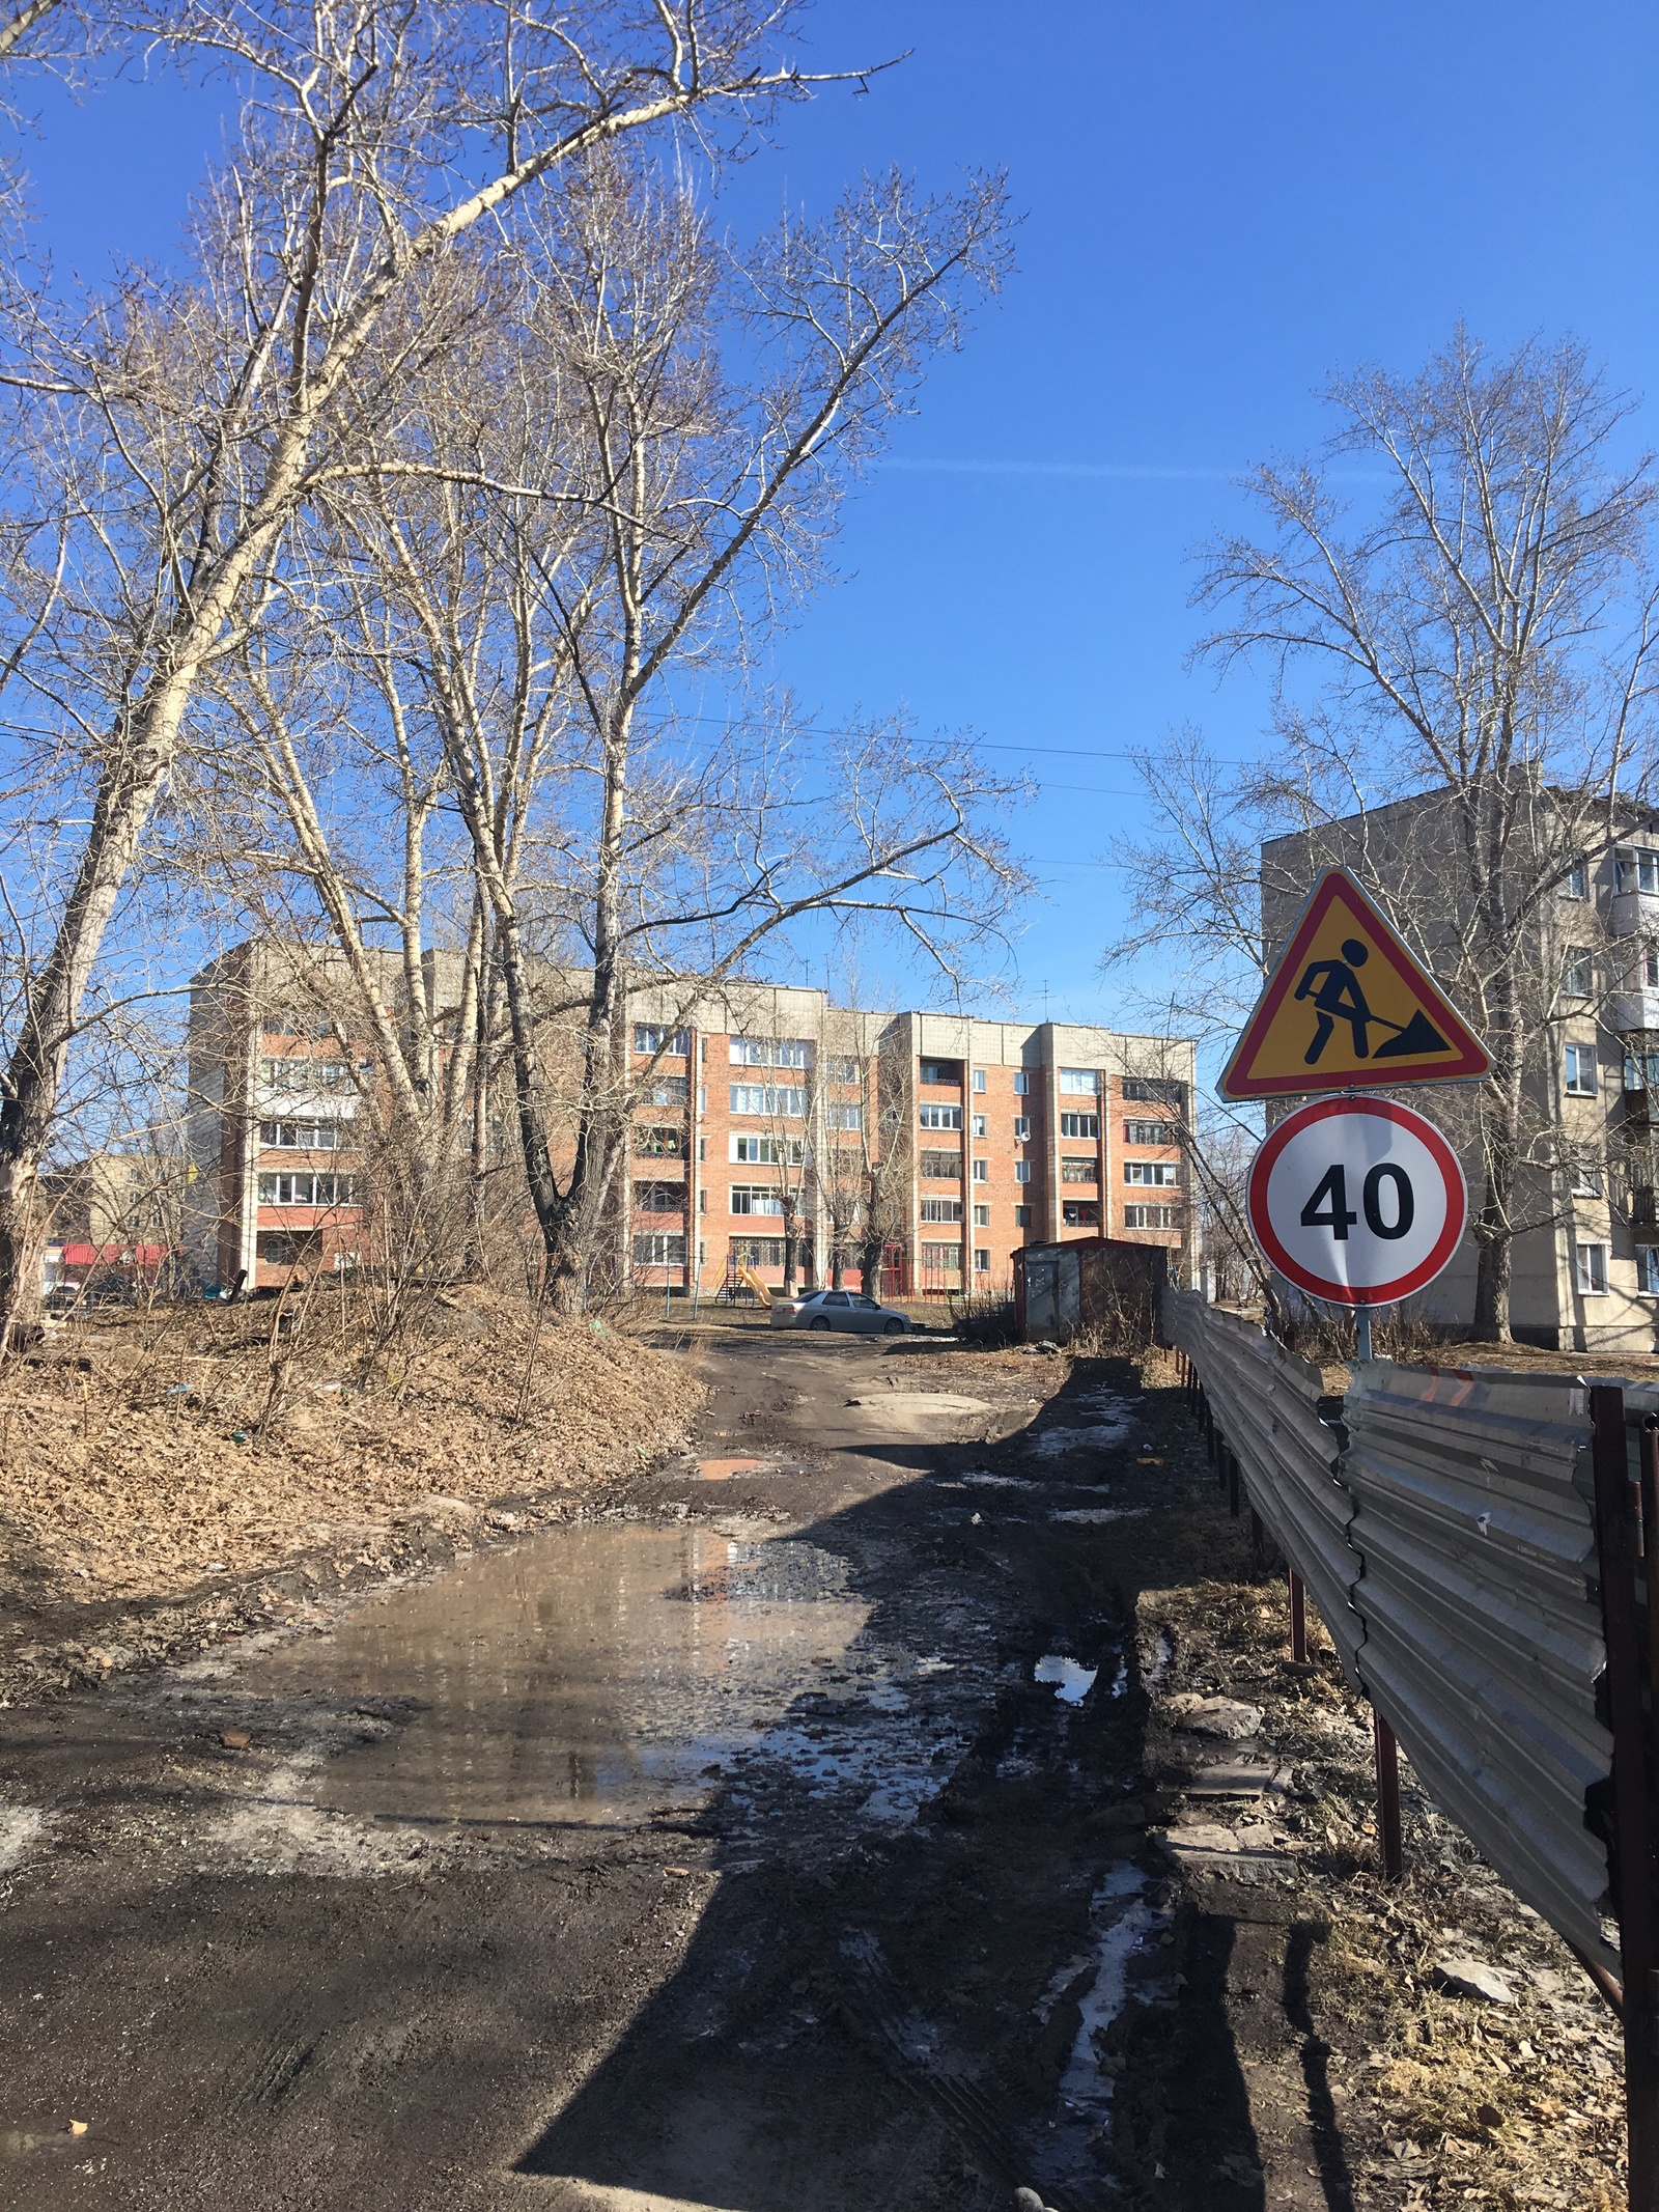
{"type": "MultiPolygon", "coordinates": [[[[1646,1657],[1637,1617],[1637,1511],[1630,1482],[1624,1391],[1590,1389],[1595,1546],[1613,1719],[1613,1860],[1624,1971],[1624,2099],[1630,2143],[1630,2212],[1659,2212],[1659,2015],[1655,2011],[1655,1863],[1646,1657]]],[[[1644,1489],[1650,1458],[1641,1438],[1644,1489]]],[[[1650,1524],[1652,1533],[1652,1524],[1650,1524]]]]}

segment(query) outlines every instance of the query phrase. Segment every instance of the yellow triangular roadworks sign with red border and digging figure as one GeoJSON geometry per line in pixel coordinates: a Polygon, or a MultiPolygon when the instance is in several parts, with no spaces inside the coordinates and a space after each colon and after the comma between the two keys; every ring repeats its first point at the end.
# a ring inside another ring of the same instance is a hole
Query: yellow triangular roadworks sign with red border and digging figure
{"type": "Polygon", "coordinates": [[[1491,1055],[1345,867],[1290,933],[1221,1077],[1221,1097],[1467,1084],[1491,1055]]]}

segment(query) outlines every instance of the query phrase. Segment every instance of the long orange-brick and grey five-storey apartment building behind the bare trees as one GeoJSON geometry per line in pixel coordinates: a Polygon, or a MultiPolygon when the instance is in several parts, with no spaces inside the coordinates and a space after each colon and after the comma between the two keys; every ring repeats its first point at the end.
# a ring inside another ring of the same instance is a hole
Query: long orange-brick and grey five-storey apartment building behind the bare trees
{"type": "MultiPolygon", "coordinates": [[[[250,945],[192,984],[204,1281],[274,1287],[301,1265],[349,1265],[361,1237],[372,1055],[299,1015],[283,973],[292,956],[250,945]]],[[[787,1241],[799,1283],[838,1267],[858,1285],[872,1206],[889,1296],[1004,1287],[1015,1248],[1102,1234],[1164,1245],[1192,1281],[1190,1042],[838,1009],[743,982],[695,1004],[637,991],[630,1046],[615,1234],[641,1287],[714,1294],[739,1272],[781,1285],[787,1241]]],[[[511,1148],[511,1124],[498,1141],[511,1148]]]]}

